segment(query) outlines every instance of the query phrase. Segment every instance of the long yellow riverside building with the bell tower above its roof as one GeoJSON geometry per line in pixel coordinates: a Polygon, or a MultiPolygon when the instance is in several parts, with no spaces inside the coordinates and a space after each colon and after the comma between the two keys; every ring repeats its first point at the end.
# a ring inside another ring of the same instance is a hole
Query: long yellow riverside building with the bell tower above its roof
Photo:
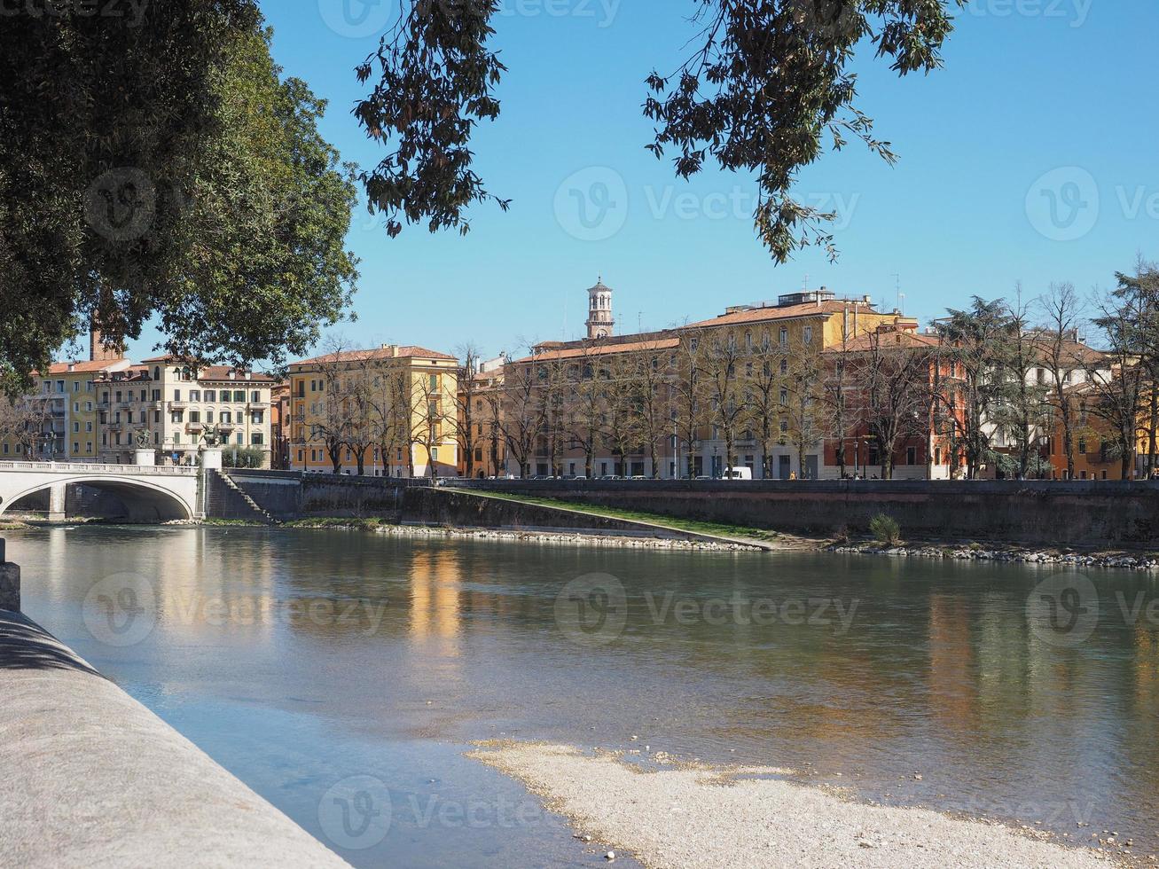
{"type": "Polygon", "coordinates": [[[868,297],[838,299],[821,287],[615,335],[613,291],[600,282],[588,294],[588,338],[538,344],[508,366],[508,474],[719,477],[734,468],[753,479],[837,476],[823,437],[808,438],[804,450],[795,443],[796,417],[808,414],[793,407],[793,378],[806,358],[819,365],[821,351],[880,327],[917,328],[868,297]]]}

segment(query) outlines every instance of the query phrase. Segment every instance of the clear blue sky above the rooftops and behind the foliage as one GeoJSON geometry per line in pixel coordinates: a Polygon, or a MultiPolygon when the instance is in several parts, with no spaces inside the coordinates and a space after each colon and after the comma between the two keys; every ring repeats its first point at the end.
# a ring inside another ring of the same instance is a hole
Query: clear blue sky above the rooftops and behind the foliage
{"type": "MultiPolygon", "coordinates": [[[[362,166],[379,151],[350,115],[363,93],[353,67],[377,45],[364,31],[393,6],[263,2],[276,59],[330,101],[323,133],[362,166]]],[[[867,54],[860,108],[901,160],[891,168],[851,144],[806,169],[797,195],[841,212],[840,258],[808,249],[780,266],[755,238],[748,177],[681,182],[644,151],[643,79],[675,68],[695,6],[503,0],[503,110],[475,151],[511,211],[475,206],[467,238],[410,226],[389,240],[359,210],[349,238],[362,258],[358,321],[342,333],[518,351],[578,336],[597,275],[615,290],[621,331],[774,298],[807,275],[810,287],[890,307],[899,282],[906,313],[926,321],[975,293],[1011,295],[1016,282],[1026,298],[1054,280],[1086,292],[1137,253],[1159,256],[1153,2],[982,0],[957,14],[943,70],[899,80],[867,54]]]]}

